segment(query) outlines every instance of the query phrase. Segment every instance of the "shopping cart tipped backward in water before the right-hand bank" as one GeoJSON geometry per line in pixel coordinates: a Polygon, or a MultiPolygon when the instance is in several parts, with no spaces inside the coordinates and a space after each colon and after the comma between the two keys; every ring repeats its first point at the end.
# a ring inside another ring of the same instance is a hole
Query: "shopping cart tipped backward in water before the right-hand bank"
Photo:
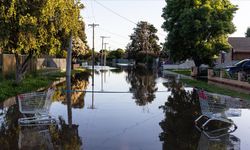
{"type": "Polygon", "coordinates": [[[241,112],[231,109],[225,99],[214,97],[203,90],[198,91],[201,113],[196,120],[196,127],[209,138],[219,138],[237,129],[235,123],[228,117],[240,116],[241,112]],[[211,128],[210,124],[217,123],[211,128]]]}

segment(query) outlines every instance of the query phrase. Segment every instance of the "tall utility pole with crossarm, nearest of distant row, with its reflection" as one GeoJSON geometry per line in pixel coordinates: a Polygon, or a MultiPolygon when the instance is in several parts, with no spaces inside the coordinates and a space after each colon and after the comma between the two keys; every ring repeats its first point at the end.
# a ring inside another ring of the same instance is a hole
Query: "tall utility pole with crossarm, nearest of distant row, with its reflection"
{"type": "Polygon", "coordinates": [[[91,108],[94,109],[94,74],[95,74],[95,56],[94,56],[94,50],[95,50],[95,27],[99,26],[99,24],[89,24],[90,27],[93,29],[93,45],[92,45],[92,106],[91,108]]]}

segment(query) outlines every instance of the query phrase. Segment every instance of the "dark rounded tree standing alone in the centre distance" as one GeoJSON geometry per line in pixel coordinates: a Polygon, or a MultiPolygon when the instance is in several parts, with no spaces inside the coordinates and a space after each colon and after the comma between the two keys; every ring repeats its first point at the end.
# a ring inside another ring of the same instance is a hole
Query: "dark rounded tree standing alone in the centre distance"
{"type": "Polygon", "coordinates": [[[148,63],[149,59],[158,57],[161,47],[157,43],[159,38],[156,33],[157,29],[153,25],[139,22],[130,36],[132,41],[127,46],[128,58],[148,63]]]}

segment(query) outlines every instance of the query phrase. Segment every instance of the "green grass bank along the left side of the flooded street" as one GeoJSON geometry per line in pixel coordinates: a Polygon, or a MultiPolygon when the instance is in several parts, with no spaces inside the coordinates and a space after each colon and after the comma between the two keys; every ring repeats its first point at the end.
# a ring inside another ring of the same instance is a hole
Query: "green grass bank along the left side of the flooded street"
{"type": "MultiPolygon", "coordinates": [[[[82,72],[83,69],[72,70],[72,74],[77,72],[82,72]]],[[[31,91],[36,91],[42,87],[48,87],[53,81],[58,80],[60,77],[65,77],[65,72],[53,71],[51,73],[46,70],[37,71],[36,73],[29,74],[25,79],[19,84],[16,85],[13,79],[0,80],[0,101],[5,99],[31,91]]],[[[0,77],[1,78],[1,77],[0,77]]]]}

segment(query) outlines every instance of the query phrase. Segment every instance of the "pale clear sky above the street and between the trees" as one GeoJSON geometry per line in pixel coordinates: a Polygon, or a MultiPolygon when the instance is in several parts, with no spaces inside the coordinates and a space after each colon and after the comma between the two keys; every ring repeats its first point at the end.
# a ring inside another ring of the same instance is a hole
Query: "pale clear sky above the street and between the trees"
{"type": "MultiPolygon", "coordinates": [[[[164,20],[161,17],[162,8],[166,5],[165,0],[81,0],[85,5],[81,11],[87,34],[87,41],[92,48],[92,27],[88,24],[99,24],[95,28],[95,49],[100,50],[102,40],[100,36],[107,36],[104,43],[107,49],[125,49],[130,42],[129,35],[139,21],[147,21],[158,29],[159,43],[164,42],[167,33],[161,25],[164,20]]],[[[231,37],[244,37],[247,27],[250,27],[250,0],[231,0],[238,5],[233,23],[236,32],[231,37]]]]}

